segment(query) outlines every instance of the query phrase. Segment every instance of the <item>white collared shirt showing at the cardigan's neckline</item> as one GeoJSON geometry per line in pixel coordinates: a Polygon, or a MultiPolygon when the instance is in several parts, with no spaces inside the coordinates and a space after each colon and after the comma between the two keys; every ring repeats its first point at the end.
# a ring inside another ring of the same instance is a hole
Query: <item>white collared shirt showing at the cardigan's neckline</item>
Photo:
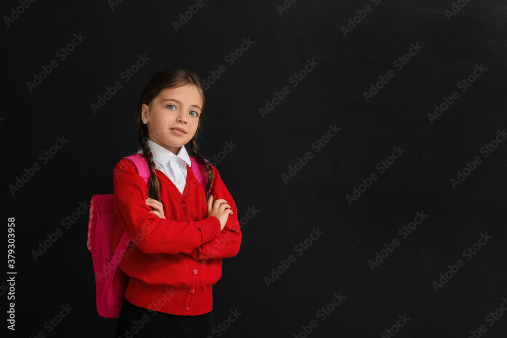
{"type": "MultiPolygon", "coordinates": [[[[187,149],[183,145],[178,152],[174,155],[172,152],[148,139],[148,146],[150,146],[153,154],[153,161],[155,168],[162,171],[169,179],[176,185],[179,192],[183,195],[185,184],[187,181],[187,164],[192,166],[190,156],[187,149]]],[[[143,154],[142,149],[137,154],[143,154]]]]}

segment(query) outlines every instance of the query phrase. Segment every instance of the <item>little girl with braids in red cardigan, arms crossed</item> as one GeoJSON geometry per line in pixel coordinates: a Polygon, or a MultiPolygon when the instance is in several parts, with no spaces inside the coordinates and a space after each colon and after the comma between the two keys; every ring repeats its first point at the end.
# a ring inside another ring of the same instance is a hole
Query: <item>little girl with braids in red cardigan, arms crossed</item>
{"type": "Polygon", "coordinates": [[[222,275],[222,258],[238,253],[241,231],[218,170],[197,152],[204,109],[202,83],[192,71],[161,71],[141,93],[139,153],[151,176],[147,185],[131,162],[115,167],[113,250],[124,230],[132,240],[120,261],[130,280],[115,337],[213,336],[212,285],[222,275]],[[187,143],[206,168],[205,189],[187,143]]]}

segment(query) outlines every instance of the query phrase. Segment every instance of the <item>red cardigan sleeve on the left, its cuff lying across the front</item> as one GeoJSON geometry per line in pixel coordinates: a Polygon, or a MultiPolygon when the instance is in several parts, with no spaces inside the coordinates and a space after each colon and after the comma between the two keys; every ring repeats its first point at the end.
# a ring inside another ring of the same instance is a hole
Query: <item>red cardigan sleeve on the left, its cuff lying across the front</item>
{"type": "Polygon", "coordinates": [[[115,211],[134,244],[146,253],[189,252],[220,233],[220,220],[209,216],[198,221],[158,218],[145,200],[148,186],[128,161],[114,170],[115,211]]]}

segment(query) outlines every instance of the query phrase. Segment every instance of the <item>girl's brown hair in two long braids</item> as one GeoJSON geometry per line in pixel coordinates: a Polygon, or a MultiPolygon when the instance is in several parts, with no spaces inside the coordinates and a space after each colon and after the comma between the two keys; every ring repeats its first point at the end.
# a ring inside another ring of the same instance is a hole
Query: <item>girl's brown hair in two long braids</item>
{"type": "Polygon", "coordinates": [[[165,69],[156,73],[150,79],[150,81],[148,81],[148,84],[142,90],[141,97],[139,99],[139,102],[137,103],[136,110],[136,121],[139,134],[139,142],[144,157],[146,157],[146,160],[148,161],[148,165],[150,167],[150,171],[152,173],[152,175],[150,176],[150,181],[148,182],[148,197],[153,198],[157,201],[160,201],[160,184],[157,176],[155,175],[155,162],[153,161],[153,154],[151,152],[150,146],[148,145],[149,138],[148,126],[143,124],[141,121],[142,104],[144,103],[149,105],[152,102],[152,100],[164,89],[177,88],[187,85],[195,86],[201,93],[202,97],[202,109],[199,118],[199,123],[197,125],[197,130],[194,134],[194,137],[192,137],[189,143],[193,152],[193,156],[197,161],[199,161],[205,166],[208,172],[208,181],[206,183],[205,188],[206,201],[208,199],[208,191],[211,189],[211,186],[213,184],[213,171],[211,169],[211,166],[197,152],[197,137],[199,134],[199,130],[201,129],[201,120],[206,107],[206,99],[204,89],[202,86],[202,81],[201,79],[199,79],[197,74],[188,69],[181,68],[165,69]]]}

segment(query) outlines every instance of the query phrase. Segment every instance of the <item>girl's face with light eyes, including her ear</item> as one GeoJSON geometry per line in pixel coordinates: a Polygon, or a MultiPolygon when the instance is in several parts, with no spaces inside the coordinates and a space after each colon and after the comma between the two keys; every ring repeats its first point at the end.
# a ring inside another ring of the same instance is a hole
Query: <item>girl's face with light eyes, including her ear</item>
{"type": "Polygon", "coordinates": [[[150,139],[177,155],[197,130],[202,103],[201,94],[193,85],[162,90],[141,108],[150,139]]]}

